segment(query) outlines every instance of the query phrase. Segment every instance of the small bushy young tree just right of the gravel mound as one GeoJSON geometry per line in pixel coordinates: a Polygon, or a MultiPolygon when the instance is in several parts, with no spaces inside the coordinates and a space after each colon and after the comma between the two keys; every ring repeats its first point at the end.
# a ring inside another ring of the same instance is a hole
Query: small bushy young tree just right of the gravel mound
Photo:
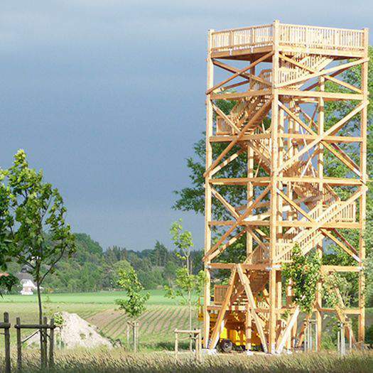
{"type": "Polygon", "coordinates": [[[118,285],[126,291],[126,298],[116,299],[115,303],[119,305],[121,310],[129,316],[133,328],[133,344],[134,351],[138,345],[138,333],[136,333],[135,320],[146,310],[146,301],[150,296],[150,293],[141,293],[144,290],[144,286],[137,278],[136,271],[130,267],[129,269],[119,269],[118,271],[118,285]]]}

